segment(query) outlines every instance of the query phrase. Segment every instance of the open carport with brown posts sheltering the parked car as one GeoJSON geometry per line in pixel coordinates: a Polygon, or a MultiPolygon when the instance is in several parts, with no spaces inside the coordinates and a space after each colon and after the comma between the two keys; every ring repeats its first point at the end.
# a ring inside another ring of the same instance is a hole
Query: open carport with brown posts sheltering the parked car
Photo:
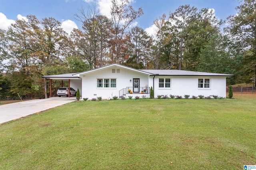
{"type": "Polygon", "coordinates": [[[78,88],[80,88],[82,90],[82,79],[80,77],[78,77],[78,76],[73,76],[73,74],[77,74],[77,73],[56,74],[56,75],[50,75],[50,76],[42,76],[44,78],[45,98],[47,98],[47,94],[46,94],[46,92],[47,92],[46,78],[50,79],[50,96],[49,96],[50,98],[52,97],[52,80],[60,80],[62,87],[63,87],[63,81],[68,81],[68,97],[69,98],[70,98],[70,80],[78,81],[78,83],[76,83],[76,84],[79,84],[79,82],[80,82],[81,86],[78,85],[78,88]]]}

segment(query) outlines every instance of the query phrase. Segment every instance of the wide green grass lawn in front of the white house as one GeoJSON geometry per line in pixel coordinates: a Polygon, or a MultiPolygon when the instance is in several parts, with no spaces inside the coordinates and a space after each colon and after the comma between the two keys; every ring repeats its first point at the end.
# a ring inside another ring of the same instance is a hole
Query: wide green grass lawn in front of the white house
{"type": "Polygon", "coordinates": [[[0,126],[0,169],[242,169],[256,96],[79,101],[0,126]]]}

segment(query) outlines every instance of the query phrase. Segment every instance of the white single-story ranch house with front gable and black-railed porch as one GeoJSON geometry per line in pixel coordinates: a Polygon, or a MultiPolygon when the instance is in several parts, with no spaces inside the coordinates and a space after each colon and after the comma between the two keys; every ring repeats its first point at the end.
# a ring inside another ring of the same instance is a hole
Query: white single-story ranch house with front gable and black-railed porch
{"type": "Polygon", "coordinates": [[[226,98],[226,78],[232,74],[195,72],[186,70],[145,70],[134,69],[120,64],[110,64],[73,74],[43,76],[44,78],[67,80],[70,87],[79,88],[82,98],[118,96],[146,96],[150,98],[150,87],[154,98],[158,95],[212,96],[226,98]],[[132,93],[129,93],[131,90],[132,93]]]}

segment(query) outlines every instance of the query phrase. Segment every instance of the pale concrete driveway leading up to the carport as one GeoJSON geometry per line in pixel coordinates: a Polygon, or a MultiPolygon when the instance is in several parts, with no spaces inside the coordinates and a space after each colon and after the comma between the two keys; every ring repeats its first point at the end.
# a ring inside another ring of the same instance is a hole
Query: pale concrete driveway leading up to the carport
{"type": "Polygon", "coordinates": [[[56,106],[61,106],[76,100],[76,97],[52,97],[48,99],[27,100],[0,106],[0,124],[27,115],[38,113],[56,106]]]}

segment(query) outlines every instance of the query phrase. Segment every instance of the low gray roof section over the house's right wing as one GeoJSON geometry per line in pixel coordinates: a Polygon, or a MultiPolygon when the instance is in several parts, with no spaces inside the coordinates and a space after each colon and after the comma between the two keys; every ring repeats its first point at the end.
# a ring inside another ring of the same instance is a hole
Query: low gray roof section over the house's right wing
{"type": "Polygon", "coordinates": [[[152,75],[160,76],[234,76],[232,74],[220,74],[212,72],[198,72],[198,71],[186,71],[186,70],[146,70],[141,71],[148,72],[152,75]]]}

